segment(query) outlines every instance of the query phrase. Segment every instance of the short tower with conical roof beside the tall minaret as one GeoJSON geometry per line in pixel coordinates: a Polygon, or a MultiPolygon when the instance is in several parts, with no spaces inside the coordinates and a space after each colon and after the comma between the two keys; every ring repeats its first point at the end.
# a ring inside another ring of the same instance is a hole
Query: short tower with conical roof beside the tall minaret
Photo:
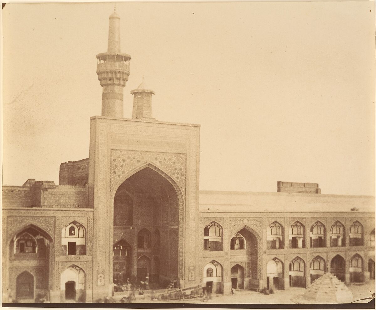
{"type": "Polygon", "coordinates": [[[145,85],[144,78],[130,93],[133,95],[132,119],[153,119],[152,96],[155,93],[145,85]]]}

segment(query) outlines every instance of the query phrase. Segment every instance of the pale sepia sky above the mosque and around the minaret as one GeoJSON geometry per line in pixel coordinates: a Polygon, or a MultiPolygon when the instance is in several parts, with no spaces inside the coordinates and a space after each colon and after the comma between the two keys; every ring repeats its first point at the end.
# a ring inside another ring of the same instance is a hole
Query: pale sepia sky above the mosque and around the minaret
{"type": "MultiPolygon", "coordinates": [[[[117,3],[153,116],[200,124],[200,189],[374,195],[373,2],[117,3]]],[[[3,9],[3,184],[89,156],[113,3],[3,9]]]]}

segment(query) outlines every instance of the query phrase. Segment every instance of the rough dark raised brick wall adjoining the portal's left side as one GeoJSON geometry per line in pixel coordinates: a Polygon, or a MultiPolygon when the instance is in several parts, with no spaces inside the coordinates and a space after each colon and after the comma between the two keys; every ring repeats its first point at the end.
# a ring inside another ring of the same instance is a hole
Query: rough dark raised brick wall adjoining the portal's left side
{"type": "Polygon", "coordinates": [[[86,185],[89,178],[89,158],[68,161],[60,165],[59,185],[86,185]]]}

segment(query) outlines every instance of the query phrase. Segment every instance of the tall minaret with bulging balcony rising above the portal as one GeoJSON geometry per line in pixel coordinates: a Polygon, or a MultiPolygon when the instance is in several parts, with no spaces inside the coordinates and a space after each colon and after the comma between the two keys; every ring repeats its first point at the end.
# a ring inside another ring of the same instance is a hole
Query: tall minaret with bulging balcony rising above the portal
{"type": "Polygon", "coordinates": [[[130,56],[120,52],[120,16],[110,15],[107,53],[97,55],[97,74],[103,87],[102,115],[123,118],[123,87],[129,77],[130,56]]]}

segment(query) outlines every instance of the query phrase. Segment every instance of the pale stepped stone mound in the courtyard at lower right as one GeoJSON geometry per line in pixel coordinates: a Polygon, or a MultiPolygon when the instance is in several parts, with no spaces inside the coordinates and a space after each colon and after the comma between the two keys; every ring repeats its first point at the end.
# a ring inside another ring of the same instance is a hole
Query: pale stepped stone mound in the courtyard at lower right
{"type": "Polygon", "coordinates": [[[299,304],[342,304],[353,301],[352,292],[329,272],[312,282],[294,302],[299,304]]]}

